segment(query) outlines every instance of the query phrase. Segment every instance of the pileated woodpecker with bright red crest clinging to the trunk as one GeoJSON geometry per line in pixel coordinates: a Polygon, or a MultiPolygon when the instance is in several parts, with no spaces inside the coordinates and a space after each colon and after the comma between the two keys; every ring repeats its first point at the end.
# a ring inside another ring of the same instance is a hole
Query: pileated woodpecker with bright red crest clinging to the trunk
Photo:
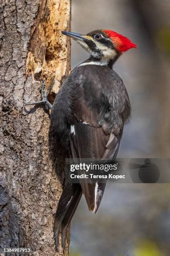
{"type": "MultiPolygon", "coordinates": [[[[131,109],[127,90],[112,65],[124,51],[137,46],[110,30],[96,30],[87,35],[66,31],[62,34],[75,39],[90,53],[90,58],[72,70],[53,105],[47,101],[43,83],[41,102],[52,108],[51,131],[60,137],[72,158],[115,159],[131,109]]],[[[97,211],[105,184],[97,184],[97,195],[95,185],[65,185],[55,214],[56,248],[60,231],[65,248],[67,227],[82,193],[89,210],[97,211]]]]}

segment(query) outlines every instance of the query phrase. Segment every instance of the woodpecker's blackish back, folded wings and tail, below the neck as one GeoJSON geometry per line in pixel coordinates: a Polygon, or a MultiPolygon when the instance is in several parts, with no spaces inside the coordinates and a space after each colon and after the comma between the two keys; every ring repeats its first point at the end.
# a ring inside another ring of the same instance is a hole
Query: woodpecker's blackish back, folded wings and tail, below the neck
{"type": "MultiPolygon", "coordinates": [[[[60,138],[74,159],[115,159],[129,110],[128,94],[113,70],[95,65],[82,66],[71,72],[55,97],[50,131],[60,138]],[[123,107],[125,105],[127,111],[123,107]]],[[[82,181],[81,185],[65,185],[55,214],[56,247],[60,228],[62,246],[65,244],[66,230],[82,191],[89,209],[95,208],[96,212],[105,185],[98,184],[96,200],[95,184],[82,181]]]]}

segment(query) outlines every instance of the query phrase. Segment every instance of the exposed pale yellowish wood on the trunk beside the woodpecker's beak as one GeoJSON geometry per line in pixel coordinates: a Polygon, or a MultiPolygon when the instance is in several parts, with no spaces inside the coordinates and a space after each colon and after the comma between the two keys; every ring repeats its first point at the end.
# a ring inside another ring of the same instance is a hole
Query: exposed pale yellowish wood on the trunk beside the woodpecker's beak
{"type": "Polygon", "coordinates": [[[70,72],[70,39],[61,34],[69,29],[70,0],[42,0],[36,26],[31,30],[26,72],[36,80],[43,77],[51,95],[70,72]]]}

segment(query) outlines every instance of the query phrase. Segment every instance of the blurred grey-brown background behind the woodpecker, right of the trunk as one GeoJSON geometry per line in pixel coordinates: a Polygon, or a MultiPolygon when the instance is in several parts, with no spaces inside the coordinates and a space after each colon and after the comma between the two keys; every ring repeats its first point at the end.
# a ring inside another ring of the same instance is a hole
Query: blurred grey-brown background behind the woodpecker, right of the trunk
{"type": "MultiPolygon", "coordinates": [[[[138,49],[113,69],[128,90],[132,120],[119,158],[170,158],[170,1],[72,0],[72,32],[110,29],[138,49]]],[[[88,58],[72,41],[72,69],[88,58]]],[[[96,215],[84,197],[71,225],[70,256],[169,256],[169,184],[107,184],[96,215]]]]}

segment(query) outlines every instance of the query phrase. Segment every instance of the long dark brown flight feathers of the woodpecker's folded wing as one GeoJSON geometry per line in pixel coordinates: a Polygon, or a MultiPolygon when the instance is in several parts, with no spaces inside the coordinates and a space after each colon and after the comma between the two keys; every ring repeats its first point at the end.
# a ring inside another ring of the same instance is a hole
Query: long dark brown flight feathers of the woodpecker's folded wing
{"type": "MultiPolygon", "coordinates": [[[[115,136],[111,133],[106,136],[102,127],[90,126],[77,120],[75,120],[74,128],[75,133],[72,133],[70,137],[74,158],[115,159],[120,144],[120,135],[115,136]]],[[[98,184],[97,192],[95,192],[95,183],[86,183],[83,179],[80,183],[89,210],[95,209],[96,212],[102,200],[105,184],[98,184]]]]}

